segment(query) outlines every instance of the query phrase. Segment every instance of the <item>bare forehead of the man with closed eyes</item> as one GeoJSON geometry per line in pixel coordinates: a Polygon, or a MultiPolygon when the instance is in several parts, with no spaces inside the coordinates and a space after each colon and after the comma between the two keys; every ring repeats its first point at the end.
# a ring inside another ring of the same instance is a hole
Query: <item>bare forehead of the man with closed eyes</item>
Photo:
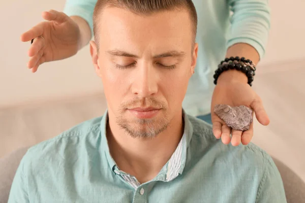
{"type": "MultiPolygon", "coordinates": [[[[99,40],[107,45],[130,43],[183,44],[192,42],[187,10],[138,15],[125,9],[105,8],[99,20],[99,40]]],[[[115,47],[116,48],[116,47],[115,47]]]]}

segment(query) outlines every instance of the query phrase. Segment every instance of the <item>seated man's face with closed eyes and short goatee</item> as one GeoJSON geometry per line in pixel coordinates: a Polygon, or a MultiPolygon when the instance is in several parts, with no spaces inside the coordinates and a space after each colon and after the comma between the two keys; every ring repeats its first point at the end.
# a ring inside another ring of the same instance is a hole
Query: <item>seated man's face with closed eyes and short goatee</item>
{"type": "Polygon", "coordinates": [[[194,73],[192,24],[187,11],[150,16],[106,8],[99,22],[99,53],[90,43],[102,78],[109,119],[132,137],[154,138],[181,119],[182,100],[194,73]]]}

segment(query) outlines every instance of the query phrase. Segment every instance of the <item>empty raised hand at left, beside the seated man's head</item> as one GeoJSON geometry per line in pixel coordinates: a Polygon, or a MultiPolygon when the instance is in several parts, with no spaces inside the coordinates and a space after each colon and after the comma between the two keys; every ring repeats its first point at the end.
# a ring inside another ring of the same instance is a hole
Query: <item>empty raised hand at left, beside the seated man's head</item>
{"type": "Polygon", "coordinates": [[[28,49],[30,59],[27,63],[33,73],[44,62],[73,56],[80,46],[80,29],[72,18],[54,10],[43,12],[42,17],[46,21],[40,22],[20,37],[22,42],[35,39],[28,49]]]}

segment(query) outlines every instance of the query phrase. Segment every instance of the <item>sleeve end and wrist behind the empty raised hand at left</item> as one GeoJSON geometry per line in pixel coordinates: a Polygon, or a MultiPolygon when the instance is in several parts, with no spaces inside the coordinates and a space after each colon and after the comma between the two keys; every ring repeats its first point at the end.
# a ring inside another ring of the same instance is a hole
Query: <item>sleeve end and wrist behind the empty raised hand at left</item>
{"type": "Polygon", "coordinates": [[[93,11],[97,0],[67,0],[64,13],[79,26],[79,50],[87,45],[93,37],[93,11]]]}

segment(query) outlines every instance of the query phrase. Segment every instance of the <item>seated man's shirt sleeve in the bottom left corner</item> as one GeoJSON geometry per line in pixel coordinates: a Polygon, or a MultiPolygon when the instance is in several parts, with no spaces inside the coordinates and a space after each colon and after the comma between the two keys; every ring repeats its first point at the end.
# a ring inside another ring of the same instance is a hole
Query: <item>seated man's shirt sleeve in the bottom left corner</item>
{"type": "Polygon", "coordinates": [[[20,161],[10,190],[8,203],[28,203],[27,182],[23,173],[25,156],[20,161]]]}

